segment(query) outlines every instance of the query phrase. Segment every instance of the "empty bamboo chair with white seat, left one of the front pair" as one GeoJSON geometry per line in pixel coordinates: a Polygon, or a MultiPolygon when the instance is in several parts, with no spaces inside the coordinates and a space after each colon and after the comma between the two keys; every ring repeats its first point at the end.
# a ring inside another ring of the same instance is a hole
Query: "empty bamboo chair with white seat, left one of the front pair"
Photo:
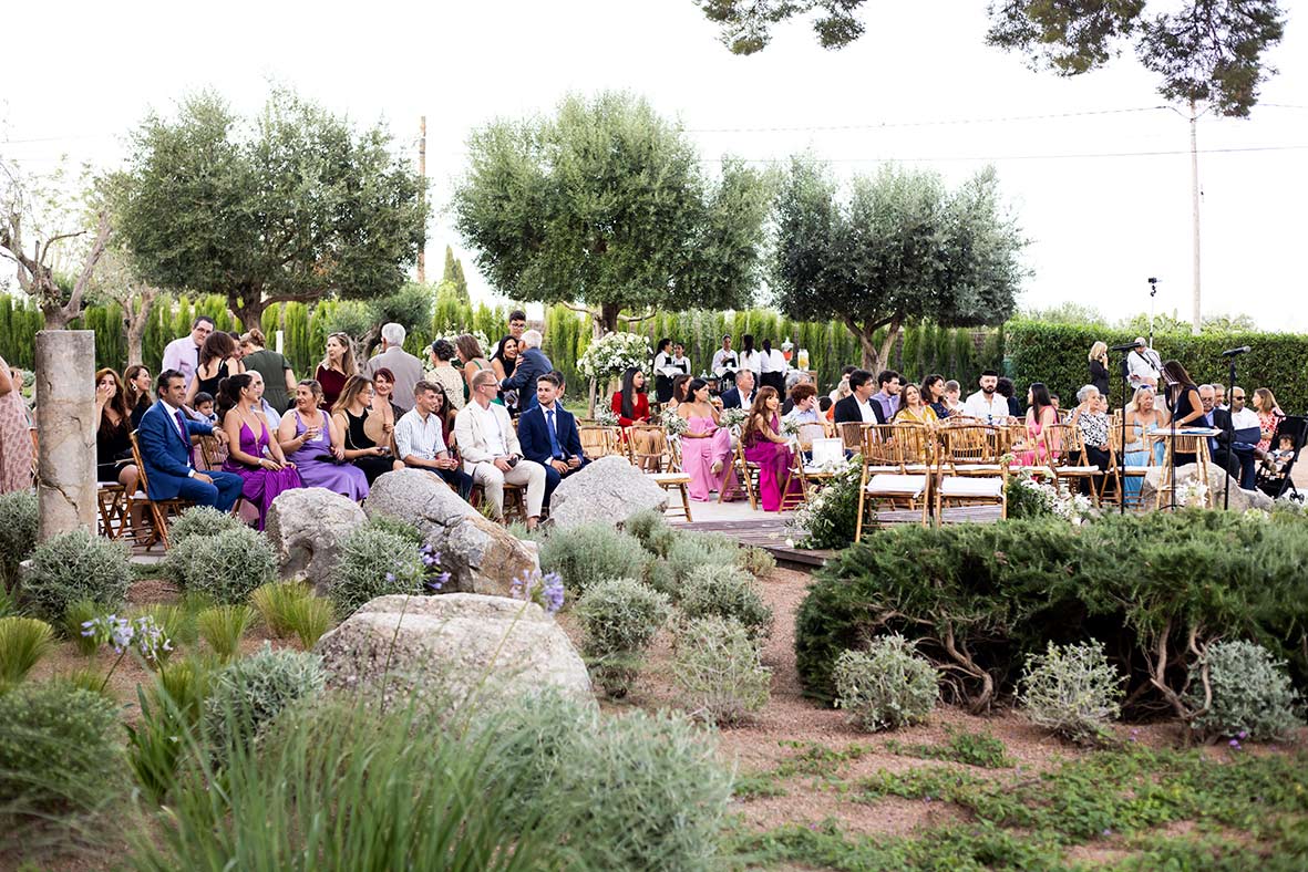
{"type": "Polygon", "coordinates": [[[858,485],[854,541],[863,537],[866,520],[875,523],[880,499],[891,505],[906,502],[910,511],[921,509],[925,527],[931,506],[931,471],[923,463],[930,455],[930,431],[920,424],[872,424],[863,430],[861,454],[863,475],[858,485]]]}

